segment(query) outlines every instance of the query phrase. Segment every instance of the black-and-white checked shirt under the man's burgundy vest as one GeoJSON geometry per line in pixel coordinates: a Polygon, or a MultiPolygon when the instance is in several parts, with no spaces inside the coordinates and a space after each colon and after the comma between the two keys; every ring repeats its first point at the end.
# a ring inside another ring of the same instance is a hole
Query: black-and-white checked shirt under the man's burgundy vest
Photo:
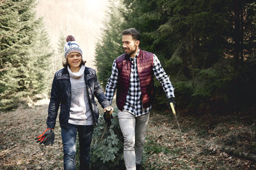
{"type": "MultiPolygon", "coordinates": [[[[140,50],[139,50],[140,52],[140,50]]],[[[144,115],[148,113],[152,106],[144,109],[142,105],[142,97],[141,97],[141,89],[140,89],[140,78],[138,74],[137,69],[137,58],[138,54],[134,57],[134,59],[131,59],[132,65],[131,65],[131,78],[130,78],[130,84],[129,84],[129,90],[126,97],[126,101],[124,104],[124,110],[129,111],[129,113],[132,113],[136,117],[139,117],[140,115],[144,115]]],[[[174,89],[172,86],[172,83],[170,81],[170,78],[165,73],[163,67],[161,66],[160,61],[157,59],[156,55],[153,55],[153,72],[156,76],[156,79],[161,83],[163,86],[164,92],[166,93],[166,97],[175,97],[174,96],[174,89]]],[[[108,79],[108,83],[106,85],[106,92],[105,95],[109,102],[112,102],[113,96],[115,94],[115,90],[117,87],[117,81],[118,81],[118,69],[116,67],[116,60],[113,62],[112,66],[112,73],[110,78],[108,79]]]]}

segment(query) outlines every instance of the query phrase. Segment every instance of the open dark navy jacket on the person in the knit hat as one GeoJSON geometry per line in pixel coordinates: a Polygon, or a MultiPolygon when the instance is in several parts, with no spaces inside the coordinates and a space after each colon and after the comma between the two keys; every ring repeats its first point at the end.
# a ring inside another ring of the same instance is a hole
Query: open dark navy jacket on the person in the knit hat
{"type": "MultiPolygon", "coordinates": [[[[109,101],[106,99],[102,87],[97,81],[96,71],[90,67],[84,69],[84,80],[88,90],[89,104],[93,113],[94,125],[97,125],[99,118],[99,110],[94,96],[97,97],[102,108],[109,106],[109,101]]],[[[67,67],[57,71],[52,81],[51,99],[48,108],[47,128],[54,128],[56,117],[60,107],[60,126],[68,127],[68,119],[71,103],[71,83],[67,67]]]]}

